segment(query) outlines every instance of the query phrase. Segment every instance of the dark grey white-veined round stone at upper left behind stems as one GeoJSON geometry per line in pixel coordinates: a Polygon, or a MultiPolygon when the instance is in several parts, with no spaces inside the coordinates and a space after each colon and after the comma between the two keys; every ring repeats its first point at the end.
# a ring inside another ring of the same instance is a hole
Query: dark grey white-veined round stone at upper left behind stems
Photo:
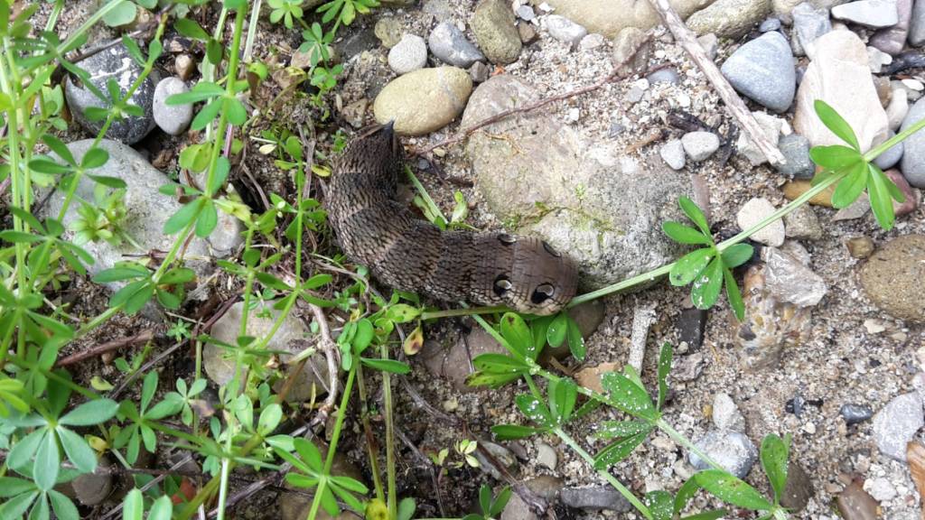
{"type": "MultiPolygon", "coordinates": [[[[131,85],[142,75],[142,67],[129,56],[129,51],[123,45],[116,45],[102,52],[96,53],[80,61],[80,68],[83,68],[90,74],[90,80],[93,85],[99,89],[107,101],[103,101],[83,86],[78,86],[73,77],[68,78],[65,83],[65,97],[68,99],[68,107],[74,116],[74,119],[80,123],[80,126],[93,134],[103,129],[105,118],[95,121],[87,118],[86,110],[91,106],[97,106],[108,109],[112,104],[108,101],[109,91],[106,83],[109,80],[115,80],[118,85],[119,95],[125,95],[129,92],[131,85]]],[[[142,116],[128,116],[126,118],[116,119],[109,129],[106,130],[105,137],[126,144],[139,142],[148,135],[148,132],[154,129],[154,86],[157,83],[157,74],[153,72],[141,86],[132,93],[129,103],[142,108],[142,116]]]]}

